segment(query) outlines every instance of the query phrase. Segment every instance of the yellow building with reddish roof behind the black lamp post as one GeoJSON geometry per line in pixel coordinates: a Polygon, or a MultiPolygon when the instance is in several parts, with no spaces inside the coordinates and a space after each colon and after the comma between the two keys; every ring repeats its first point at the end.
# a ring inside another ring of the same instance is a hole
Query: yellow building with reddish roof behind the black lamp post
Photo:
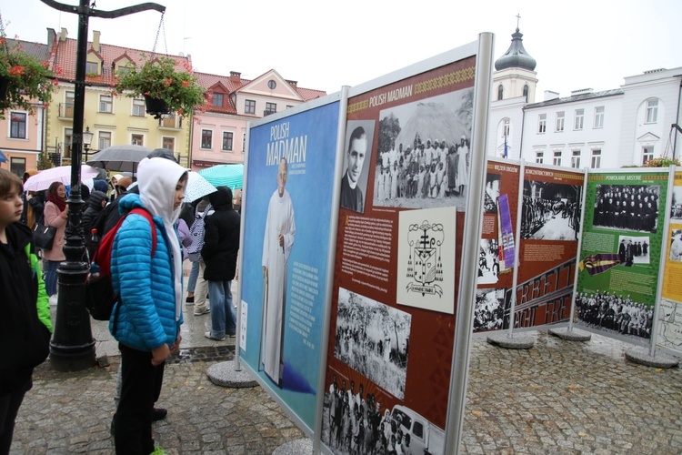
{"type": "MultiPolygon", "coordinates": [[[[48,153],[61,154],[62,164],[69,164],[74,128],[77,45],[76,39],[67,36],[65,28],[59,35],[52,29],[48,30],[48,34],[48,43],[54,43],[51,60],[58,73],[59,86],[47,109],[45,146],[48,153]]],[[[151,53],[100,43],[97,31],[93,31],[93,39],[88,42],[87,49],[83,130],[89,129],[95,136],[90,149],[84,150],[83,161],[109,146],[137,144],[173,150],[180,165],[189,167],[190,118],[171,114],[155,119],[146,114],[144,98],[114,93],[115,74],[125,71],[125,68],[142,66],[151,53]]],[[[191,66],[189,56],[167,57],[175,59],[178,68],[185,64],[191,66]]]]}

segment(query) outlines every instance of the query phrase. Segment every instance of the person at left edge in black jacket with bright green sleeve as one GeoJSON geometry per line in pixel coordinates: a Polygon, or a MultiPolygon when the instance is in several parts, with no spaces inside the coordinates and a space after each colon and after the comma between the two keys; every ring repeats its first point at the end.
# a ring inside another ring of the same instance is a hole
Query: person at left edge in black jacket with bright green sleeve
{"type": "Polygon", "coordinates": [[[0,455],[9,453],[16,414],[33,386],[33,370],[49,353],[52,322],[19,177],[0,169],[0,455]]]}

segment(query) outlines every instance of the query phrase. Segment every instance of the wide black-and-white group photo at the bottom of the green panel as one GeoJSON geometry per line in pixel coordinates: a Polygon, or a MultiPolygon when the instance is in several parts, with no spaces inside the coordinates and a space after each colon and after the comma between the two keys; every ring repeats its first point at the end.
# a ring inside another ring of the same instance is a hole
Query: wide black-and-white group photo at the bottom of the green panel
{"type": "Polygon", "coordinates": [[[629,294],[581,292],[576,296],[578,319],[593,329],[608,331],[627,339],[650,339],[654,308],[638,303],[629,294]]]}

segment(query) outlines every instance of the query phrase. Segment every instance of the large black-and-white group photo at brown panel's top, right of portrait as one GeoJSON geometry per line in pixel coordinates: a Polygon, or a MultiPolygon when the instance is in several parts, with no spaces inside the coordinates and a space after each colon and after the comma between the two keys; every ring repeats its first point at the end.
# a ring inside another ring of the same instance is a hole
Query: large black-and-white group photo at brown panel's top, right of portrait
{"type": "Polygon", "coordinates": [[[474,89],[395,106],[379,114],[376,207],[464,207],[474,89]]]}

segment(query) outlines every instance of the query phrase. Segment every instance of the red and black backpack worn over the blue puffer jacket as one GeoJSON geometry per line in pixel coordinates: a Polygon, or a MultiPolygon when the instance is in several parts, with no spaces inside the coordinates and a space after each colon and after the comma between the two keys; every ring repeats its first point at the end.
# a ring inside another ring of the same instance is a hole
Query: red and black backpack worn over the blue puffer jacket
{"type": "Polygon", "coordinates": [[[118,300],[114,285],[111,282],[111,250],[114,248],[116,232],[123,224],[125,217],[131,213],[142,215],[152,227],[152,256],[156,251],[156,227],[152,215],[144,208],[134,208],[118,220],[115,227],[106,233],[93,254],[93,267],[85,281],[85,308],[96,320],[111,319],[111,311],[118,300]],[[98,271],[97,271],[98,268],[98,271]]]}

